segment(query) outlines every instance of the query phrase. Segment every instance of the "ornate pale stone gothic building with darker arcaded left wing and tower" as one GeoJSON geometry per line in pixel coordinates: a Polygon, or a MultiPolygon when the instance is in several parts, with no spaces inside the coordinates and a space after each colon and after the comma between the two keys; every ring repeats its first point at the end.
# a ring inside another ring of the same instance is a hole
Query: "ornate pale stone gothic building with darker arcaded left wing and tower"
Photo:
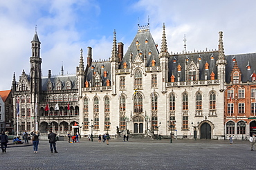
{"type": "MultiPolygon", "coordinates": [[[[232,69],[224,55],[222,32],[218,50],[169,53],[163,25],[161,48],[147,26],[126,53],[113,35],[109,60],[86,64],[81,49],[76,75],[42,77],[40,41],[31,41],[30,75],[12,82],[19,131],[38,129],[58,135],[130,133],[175,138],[223,139],[226,135],[226,81],[232,69]]],[[[228,59],[227,59],[228,58],[228,59]]],[[[62,69],[63,71],[63,69],[62,69]]],[[[252,81],[251,79],[249,81],[252,81]]],[[[228,81],[230,82],[230,81],[228,81]]]]}

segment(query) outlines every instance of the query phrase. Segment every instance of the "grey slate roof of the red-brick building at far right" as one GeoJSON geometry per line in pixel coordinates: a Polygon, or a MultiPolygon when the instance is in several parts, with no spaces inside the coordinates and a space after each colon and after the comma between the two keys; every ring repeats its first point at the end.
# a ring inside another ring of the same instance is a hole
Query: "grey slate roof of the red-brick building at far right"
{"type": "Polygon", "coordinates": [[[241,70],[241,82],[252,82],[251,75],[256,70],[256,66],[253,63],[256,63],[256,53],[240,54],[240,55],[226,55],[227,65],[226,65],[226,83],[231,82],[231,72],[235,62],[233,58],[237,61],[237,65],[241,70]],[[250,70],[247,66],[250,64],[250,70]]]}

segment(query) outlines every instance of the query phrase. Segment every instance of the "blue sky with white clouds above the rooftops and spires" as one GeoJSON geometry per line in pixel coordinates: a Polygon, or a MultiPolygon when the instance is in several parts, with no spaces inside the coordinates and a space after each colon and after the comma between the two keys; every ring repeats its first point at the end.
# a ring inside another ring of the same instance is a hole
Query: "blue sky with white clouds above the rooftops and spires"
{"type": "Polygon", "coordinates": [[[150,31],[161,44],[165,23],[169,52],[218,48],[218,32],[223,31],[226,55],[256,52],[256,1],[253,0],[9,0],[0,1],[0,91],[11,88],[22,70],[29,74],[30,41],[37,33],[41,41],[42,74],[75,74],[80,48],[87,46],[93,59],[111,56],[113,30],[125,51],[140,25],[149,17],[150,31]],[[139,19],[138,19],[139,18],[139,19]]]}

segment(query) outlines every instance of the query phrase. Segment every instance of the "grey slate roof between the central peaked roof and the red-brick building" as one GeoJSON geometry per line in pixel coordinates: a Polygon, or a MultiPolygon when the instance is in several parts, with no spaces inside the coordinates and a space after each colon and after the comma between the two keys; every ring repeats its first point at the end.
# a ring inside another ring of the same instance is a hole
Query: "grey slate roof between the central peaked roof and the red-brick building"
{"type": "MultiPolygon", "coordinates": [[[[178,82],[178,75],[180,77],[180,82],[186,81],[186,59],[188,59],[187,68],[190,66],[192,62],[194,62],[195,66],[198,66],[199,63],[199,80],[205,80],[205,73],[207,75],[207,79],[210,79],[210,74],[213,72],[217,75],[217,66],[216,62],[218,59],[219,52],[218,51],[209,51],[202,53],[185,53],[178,55],[170,55],[168,58],[168,82],[170,82],[170,77],[172,75],[175,76],[175,82],[178,82]],[[213,56],[213,59],[211,58],[213,56]],[[201,61],[199,61],[201,58],[201,61]],[[174,62],[176,60],[176,62],[174,62]],[[206,62],[209,64],[209,69],[205,70],[206,62]],[[181,72],[178,72],[177,66],[181,65],[181,72]]],[[[197,69],[197,68],[196,68],[197,69]]],[[[217,77],[215,77],[217,79],[217,77]]]]}

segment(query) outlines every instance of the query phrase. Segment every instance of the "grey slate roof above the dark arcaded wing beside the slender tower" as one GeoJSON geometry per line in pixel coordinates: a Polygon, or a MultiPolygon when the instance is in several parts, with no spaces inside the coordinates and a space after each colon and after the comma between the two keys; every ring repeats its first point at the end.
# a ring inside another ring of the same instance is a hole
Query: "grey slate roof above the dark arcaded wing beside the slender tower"
{"type": "MultiPolygon", "coordinates": [[[[47,91],[48,77],[42,77],[42,91],[47,91]]],[[[50,81],[53,83],[53,91],[57,90],[57,82],[62,82],[62,90],[66,90],[66,82],[69,80],[72,82],[71,89],[77,89],[76,81],[77,77],[75,75],[53,75],[50,81]]]]}

